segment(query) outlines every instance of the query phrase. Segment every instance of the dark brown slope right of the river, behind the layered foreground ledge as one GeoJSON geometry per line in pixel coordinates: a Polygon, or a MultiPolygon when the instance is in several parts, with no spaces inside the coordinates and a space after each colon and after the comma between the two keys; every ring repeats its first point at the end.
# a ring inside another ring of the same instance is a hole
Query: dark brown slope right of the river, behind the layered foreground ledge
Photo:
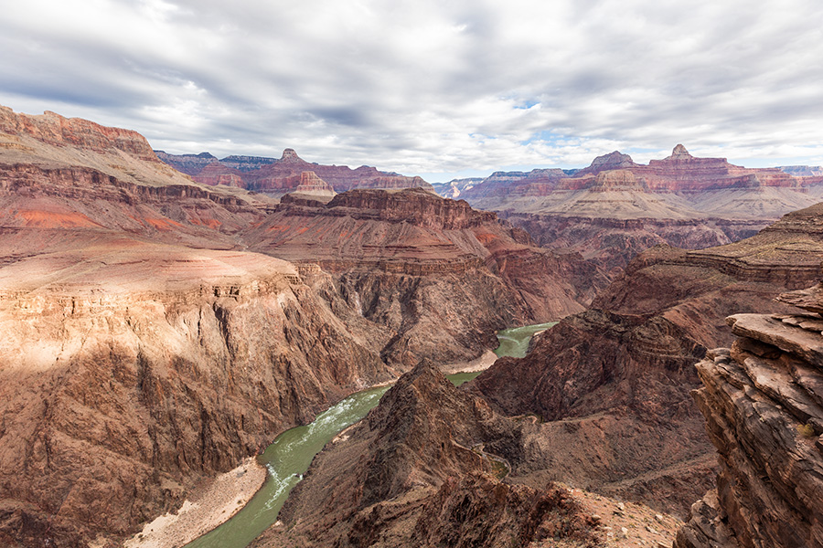
{"type": "Polygon", "coordinates": [[[731,343],[726,316],[786,313],[773,296],[817,278],[818,211],[801,210],[719,248],[652,248],[590,310],[544,333],[526,358],[498,360],[477,377],[474,390],[498,409],[548,421],[528,435],[528,464],[515,473],[684,515],[712,467],[689,397],[700,385],[692,364],[707,348],[731,343]]]}

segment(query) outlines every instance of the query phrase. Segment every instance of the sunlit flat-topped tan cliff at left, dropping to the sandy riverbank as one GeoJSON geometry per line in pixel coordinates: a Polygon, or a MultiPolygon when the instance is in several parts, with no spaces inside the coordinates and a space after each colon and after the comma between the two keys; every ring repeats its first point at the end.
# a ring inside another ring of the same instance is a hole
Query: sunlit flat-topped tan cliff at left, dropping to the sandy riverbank
{"type": "Polygon", "coordinates": [[[132,242],[17,261],[0,291],[7,545],[116,544],[388,377],[274,258],[132,242]]]}

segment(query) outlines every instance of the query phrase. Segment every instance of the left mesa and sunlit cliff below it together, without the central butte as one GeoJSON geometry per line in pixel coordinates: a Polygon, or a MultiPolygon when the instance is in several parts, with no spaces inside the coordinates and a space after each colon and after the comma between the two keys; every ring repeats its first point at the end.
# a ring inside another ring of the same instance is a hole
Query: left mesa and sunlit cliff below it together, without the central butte
{"type": "Polygon", "coordinates": [[[293,265],[237,250],[272,200],[134,132],[0,120],[0,544],[117,545],[390,378],[293,265]]]}

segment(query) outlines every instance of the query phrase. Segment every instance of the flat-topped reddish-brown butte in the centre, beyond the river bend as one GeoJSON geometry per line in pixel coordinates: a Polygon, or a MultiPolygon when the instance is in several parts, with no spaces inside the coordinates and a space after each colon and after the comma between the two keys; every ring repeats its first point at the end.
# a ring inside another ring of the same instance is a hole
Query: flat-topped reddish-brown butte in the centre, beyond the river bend
{"type": "Polygon", "coordinates": [[[497,329],[582,310],[602,278],[494,214],[420,189],[356,190],[327,204],[287,197],[244,238],[326,272],[315,289],[348,324],[368,321],[383,357],[404,367],[474,359],[497,329]]]}

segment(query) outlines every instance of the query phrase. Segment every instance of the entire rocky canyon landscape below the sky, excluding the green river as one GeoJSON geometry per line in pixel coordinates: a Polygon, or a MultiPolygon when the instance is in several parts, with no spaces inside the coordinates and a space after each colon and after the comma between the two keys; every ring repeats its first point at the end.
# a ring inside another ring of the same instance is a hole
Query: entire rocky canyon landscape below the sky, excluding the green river
{"type": "Polygon", "coordinates": [[[0,107],[0,544],[179,548],[390,385],[251,546],[823,545],[821,200],[681,144],[429,184],[0,107]]]}

